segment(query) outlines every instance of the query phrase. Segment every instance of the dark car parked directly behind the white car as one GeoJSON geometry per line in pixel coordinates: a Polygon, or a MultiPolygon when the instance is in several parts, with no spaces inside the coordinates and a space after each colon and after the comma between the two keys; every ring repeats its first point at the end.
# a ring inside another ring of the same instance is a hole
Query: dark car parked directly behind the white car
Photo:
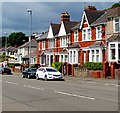
{"type": "Polygon", "coordinates": [[[23,78],[30,79],[31,77],[35,77],[37,68],[27,68],[22,72],[23,78]]]}

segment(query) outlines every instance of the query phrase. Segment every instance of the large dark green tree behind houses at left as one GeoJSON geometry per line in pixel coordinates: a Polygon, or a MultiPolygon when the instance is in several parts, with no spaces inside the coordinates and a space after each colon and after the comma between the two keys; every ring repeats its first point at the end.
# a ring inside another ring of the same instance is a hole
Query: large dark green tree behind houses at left
{"type": "Polygon", "coordinates": [[[11,46],[21,46],[28,41],[28,37],[25,36],[22,32],[13,32],[9,35],[8,43],[11,46]]]}

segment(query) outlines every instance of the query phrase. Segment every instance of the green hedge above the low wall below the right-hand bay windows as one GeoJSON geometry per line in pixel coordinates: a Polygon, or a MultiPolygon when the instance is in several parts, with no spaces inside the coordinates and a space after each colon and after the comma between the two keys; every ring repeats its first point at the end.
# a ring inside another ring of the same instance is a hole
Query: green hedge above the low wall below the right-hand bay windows
{"type": "Polygon", "coordinates": [[[85,67],[89,70],[102,70],[101,62],[87,62],[85,67]]]}

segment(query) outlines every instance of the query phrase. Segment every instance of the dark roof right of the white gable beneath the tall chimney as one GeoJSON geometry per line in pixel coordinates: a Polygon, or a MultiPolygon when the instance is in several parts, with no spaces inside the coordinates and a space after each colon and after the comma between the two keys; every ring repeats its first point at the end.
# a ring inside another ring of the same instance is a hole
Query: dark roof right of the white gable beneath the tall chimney
{"type": "Polygon", "coordinates": [[[79,22],[74,22],[74,21],[63,21],[66,33],[70,33],[71,28],[76,26],[79,22]]]}

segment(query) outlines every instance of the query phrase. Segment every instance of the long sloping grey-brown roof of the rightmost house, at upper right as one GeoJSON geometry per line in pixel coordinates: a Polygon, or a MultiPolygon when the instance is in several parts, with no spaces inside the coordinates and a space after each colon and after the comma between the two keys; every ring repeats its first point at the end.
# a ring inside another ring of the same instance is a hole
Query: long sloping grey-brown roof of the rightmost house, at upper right
{"type": "Polygon", "coordinates": [[[100,18],[93,22],[91,26],[104,24],[107,18],[115,16],[120,16],[120,7],[107,10],[100,18]]]}

